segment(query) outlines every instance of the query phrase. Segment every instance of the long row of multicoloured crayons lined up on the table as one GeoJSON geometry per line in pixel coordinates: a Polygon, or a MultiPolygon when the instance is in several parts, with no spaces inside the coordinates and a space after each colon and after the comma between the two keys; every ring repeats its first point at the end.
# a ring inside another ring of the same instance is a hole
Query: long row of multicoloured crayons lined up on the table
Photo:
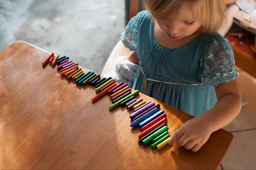
{"type": "Polygon", "coordinates": [[[139,94],[139,90],[131,92],[132,89],[127,83],[121,82],[116,83],[114,79],[100,78],[100,75],[88,71],[83,72],[81,68],[78,67],[77,63],[72,60],[69,61],[67,56],[54,56],[51,53],[42,65],[50,63],[52,66],[58,64],[57,69],[60,70],[61,75],[65,75],[67,79],[73,79],[79,85],[91,84],[95,85],[96,92],[100,92],[91,100],[93,102],[100,99],[105,94],[110,95],[112,100],[112,105],[109,109],[112,110],[117,106],[126,106],[128,109],[133,109],[134,113],[130,115],[132,120],[130,126],[139,126],[141,133],[139,134],[139,143],[142,145],[147,145],[152,143],[152,148],[161,149],[163,146],[167,145],[171,139],[168,132],[167,118],[163,110],[160,109],[160,104],[155,104],[154,102],[146,102],[142,98],[136,100],[134,96],[139,94]]]}

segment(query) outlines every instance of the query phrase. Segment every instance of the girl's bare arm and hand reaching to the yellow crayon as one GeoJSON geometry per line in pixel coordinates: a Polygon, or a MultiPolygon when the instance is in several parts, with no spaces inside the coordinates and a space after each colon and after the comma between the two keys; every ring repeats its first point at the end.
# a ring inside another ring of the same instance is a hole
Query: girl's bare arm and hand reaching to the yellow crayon
{"type": "Polygon", "coordinates": [[[237,81],[229,81],[215,86],[218,102],[215,106],[202,114],[187,121],[175,132],[169,141],[173,145],[176,141],[185,149],[198,151],[209,139],[211,133],[228,125],[239,114],[242,99],[237,81]]]}

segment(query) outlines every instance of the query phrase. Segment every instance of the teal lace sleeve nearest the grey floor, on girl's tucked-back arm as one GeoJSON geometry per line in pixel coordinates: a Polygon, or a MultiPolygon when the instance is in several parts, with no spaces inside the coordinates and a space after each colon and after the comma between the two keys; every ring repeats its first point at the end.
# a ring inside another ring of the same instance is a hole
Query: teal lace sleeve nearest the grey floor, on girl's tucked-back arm
{"type": "Polygon", "coordinates": [[[145,11],[139,12],[137,16],[131,18],[128,25],[125,28],[125,31],[121,34],[120,40],[126,48],[129,48],[131,51],[137,51],[137,33],[139,30],[140,19],[142,14],[145,11]]]}

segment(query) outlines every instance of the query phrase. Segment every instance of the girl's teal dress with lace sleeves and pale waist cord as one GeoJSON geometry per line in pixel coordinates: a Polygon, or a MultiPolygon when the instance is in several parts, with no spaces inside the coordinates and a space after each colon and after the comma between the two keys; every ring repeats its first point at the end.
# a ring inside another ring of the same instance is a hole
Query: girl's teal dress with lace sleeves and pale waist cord
{"type": "Polygon", "coordinates": [[[140,60],[133,89],[193,116],[217,102],[214,86],[238,77],[234,54],[218,33],[203,33],[187,45],[162,47],[153,35],[154,22],[146,11],[133,17],[121,40],[140,60]],[[154,81],[152,81],[154,80],[154,81]]]}

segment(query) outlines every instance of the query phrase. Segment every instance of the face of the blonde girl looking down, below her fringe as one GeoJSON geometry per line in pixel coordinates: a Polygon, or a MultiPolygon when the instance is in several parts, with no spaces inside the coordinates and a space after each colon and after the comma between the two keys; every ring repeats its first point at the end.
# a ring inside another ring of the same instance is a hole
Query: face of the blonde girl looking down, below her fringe
{"type": "Polygon", "coordinates": [[[169,38],[178,40],[193,34],[200,28],[201,24],[196,22],[192,16],[192,13],[187,12],[185,16],[179,16],[175,19],[157,19],[157,23],[169,38]]]}

